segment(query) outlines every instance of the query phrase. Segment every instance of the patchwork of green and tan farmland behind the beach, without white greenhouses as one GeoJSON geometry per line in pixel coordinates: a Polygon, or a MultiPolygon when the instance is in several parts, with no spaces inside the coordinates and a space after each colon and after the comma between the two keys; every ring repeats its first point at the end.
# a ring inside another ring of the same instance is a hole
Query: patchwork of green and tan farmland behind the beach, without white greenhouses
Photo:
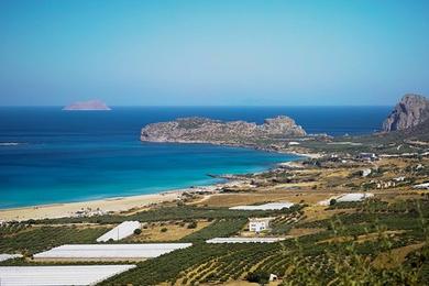
{"type": "MultiPolygon", "coordinates": [[[[251,175],[255,187],[158,205],[131,213],[10,223],[0,228],[0,251],[24,253],[1,265],[41,265],[31,255],[61,244],[95,243],[125,220],[143,228],[119,243],[190,242],[100,285],[425,285],[429,283],[428,160],[381,160],[367,165],[305,165],[251,175]],[[421,165],[421,166],[420,166],[421,165]],[[416,166],[419,166],[416,168],[416,166]],[[362,177],[365,167],[374,174],[362,177]],[[367,190],[372,179],[407,184],[367,190]],[[305,183],[305,184],[301,184],[305,183]],[[403,183],[403,182],[402,182],[403,183]],[[373,194],[364,201],[330,200],[346,193],[373,194]],[[232,206],[290,201],[282,210],[231,210],[232,206]],[[328,201],[321,205],[320,201],[328,201]],[[249,218],[274,218],[270,229],[249,231],[249,218]],[[206,243],[213,238],[282,238],[274,243],[206,243]],[[287,277],[287,278],[286,278],[287,277]]],[[[246,177],[249,179],[249,176],[246,177]]],[[[107,242],[118,243],[118,242],[107,242]]],[[[91,264],[94,262],[85,262],[91,264]]],[[[120,262],[127,263],[127,262],[120,262]]],[[[73,265],[74,262],[62,262],[73,265]]]]}

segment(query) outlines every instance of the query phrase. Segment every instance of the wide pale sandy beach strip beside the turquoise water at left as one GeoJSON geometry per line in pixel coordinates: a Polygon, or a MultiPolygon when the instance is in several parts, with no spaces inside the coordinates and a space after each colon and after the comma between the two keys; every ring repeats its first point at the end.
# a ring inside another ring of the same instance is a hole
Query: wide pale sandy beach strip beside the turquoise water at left
{"type": "Polygon", "coordinates": [[[29,219],[54,219],[76,216],[77,211],[100,209],[103,212],[124,211],[132,208],[141,208],[151,204],[173,201],[180,196],[180,191],[167,191],[152,195],[131,197],[117,197],[100,200],[79,202],[66,202],[44,206],[33,206],[0,210],[0,221],[29,220],[29,219]]]}

